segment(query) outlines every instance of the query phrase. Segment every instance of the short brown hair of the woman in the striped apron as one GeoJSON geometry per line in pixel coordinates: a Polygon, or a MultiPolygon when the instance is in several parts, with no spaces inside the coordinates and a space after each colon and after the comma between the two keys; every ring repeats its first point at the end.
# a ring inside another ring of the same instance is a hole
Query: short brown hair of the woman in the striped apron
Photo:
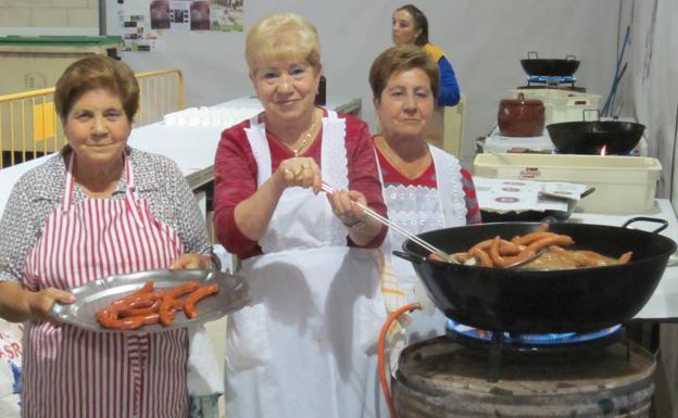
{"type": "Polygon", "coordinates": [[[127,64],[104,55],[87,55],[64,71],[54,90],[56,113],[65,119],[83,93],[99,88],[117,94],[127,118],[134,118],[139,109],[137,78],[127,64]]]}

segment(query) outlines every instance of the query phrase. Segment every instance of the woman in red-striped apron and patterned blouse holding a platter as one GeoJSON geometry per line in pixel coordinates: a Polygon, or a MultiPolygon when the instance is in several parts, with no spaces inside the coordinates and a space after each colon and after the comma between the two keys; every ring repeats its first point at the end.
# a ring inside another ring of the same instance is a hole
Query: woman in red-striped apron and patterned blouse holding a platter
{"type": "Polygon", "coordinates": [[[126,145],[138,99],[125,64],[72,64],[54,94],[68,145],[17,181],[0,220],[0,316],[26,321],[25,418],[188,416],[187,330],[98,333],[49,316],[97,278],[210,266],[176,164],[126,145]]]}

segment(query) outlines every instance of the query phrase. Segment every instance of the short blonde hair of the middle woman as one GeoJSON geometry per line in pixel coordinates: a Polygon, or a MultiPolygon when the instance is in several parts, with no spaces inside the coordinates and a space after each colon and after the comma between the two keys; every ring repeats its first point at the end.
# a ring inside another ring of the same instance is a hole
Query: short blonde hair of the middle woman
{"type": "Polygon", "coordinates": [[[321,65],[321,41],[315,26],[294,13],[276,13],[259,21],[247,35],[244,58],[253,74],[262,63],[280,56],[300,56],[321,65]]]}

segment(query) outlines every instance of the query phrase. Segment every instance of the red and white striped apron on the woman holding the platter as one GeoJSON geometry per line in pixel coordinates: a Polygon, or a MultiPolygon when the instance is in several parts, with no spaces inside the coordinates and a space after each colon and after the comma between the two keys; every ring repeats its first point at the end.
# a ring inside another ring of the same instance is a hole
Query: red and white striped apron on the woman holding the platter
{"type": "MultiPolygon", "coordinates": [[[[72,203],[75,155],[62,204],[29,253],[24,284],[71,289],[97,278],[167,268],[177,233],[138,198],[125,156],[125,199],[72,203]]],[[[186,417],[187,331],[125,335],[29,321],[24,332],[24,418],[186,417]]]]}

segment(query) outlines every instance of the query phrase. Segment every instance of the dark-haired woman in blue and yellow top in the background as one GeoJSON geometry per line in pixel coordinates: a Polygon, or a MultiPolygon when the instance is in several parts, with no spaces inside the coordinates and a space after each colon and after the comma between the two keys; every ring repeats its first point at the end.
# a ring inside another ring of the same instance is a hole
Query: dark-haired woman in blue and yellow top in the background
{"type": "Polygon", "coordinates": [[[393,13],[391,38],[393,43],[415,45],[424,48],[434,62],[438,63],[440,74],[439,106],[453,106],[460,101],[460,88],[452,64],[444,52],[428,40],[428,18],[415,5],[405,4],[393,13]]]}

